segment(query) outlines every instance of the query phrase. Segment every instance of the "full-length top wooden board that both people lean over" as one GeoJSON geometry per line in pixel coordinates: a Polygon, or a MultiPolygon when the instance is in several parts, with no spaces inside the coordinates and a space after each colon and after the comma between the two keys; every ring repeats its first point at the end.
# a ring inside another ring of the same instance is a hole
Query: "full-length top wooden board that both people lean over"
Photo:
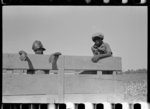
{"type": "MultiPolygon", "coordinates": [[[[28,57],[28,61],[20,61],[19,54],[3,54],[3,69],[52,69],[50,55],[28,54],[28,57]]],[[[120,57],[108,57],[93,63],[90,56],[60,56],[58,69],[62,66],[61,58],[64,58],[65,70],[122,70],[120,57]]]]}

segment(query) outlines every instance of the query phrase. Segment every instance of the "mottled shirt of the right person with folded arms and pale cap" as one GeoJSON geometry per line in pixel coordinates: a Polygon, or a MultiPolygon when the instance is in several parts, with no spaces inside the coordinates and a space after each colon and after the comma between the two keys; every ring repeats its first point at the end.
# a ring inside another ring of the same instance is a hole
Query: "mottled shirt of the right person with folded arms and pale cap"
{"type": "Polygon", "coordinates": [[[95,44],[91,47],[92,52],[94,55],[99,55],[99,54],[106,54],[108,52],[111,52],[111,48],[109,46],[109,44],[107,43],[102,43],[102,45],[100,47],[97,47],[95,44]]]}

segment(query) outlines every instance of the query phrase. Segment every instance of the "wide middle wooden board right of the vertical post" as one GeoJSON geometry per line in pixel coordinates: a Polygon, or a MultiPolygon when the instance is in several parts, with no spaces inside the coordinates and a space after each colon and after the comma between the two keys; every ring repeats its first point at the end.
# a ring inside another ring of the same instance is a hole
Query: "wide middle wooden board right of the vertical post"
{"type": "Polygon", "coordinates": [[[110,94],[114,93],[113,79],[66,77],[64,79],[65,94],[110,94]]]}

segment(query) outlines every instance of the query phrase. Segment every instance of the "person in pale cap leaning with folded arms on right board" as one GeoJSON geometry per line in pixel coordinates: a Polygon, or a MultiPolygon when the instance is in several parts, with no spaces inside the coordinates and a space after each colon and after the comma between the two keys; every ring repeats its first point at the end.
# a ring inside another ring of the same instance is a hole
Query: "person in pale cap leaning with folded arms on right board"
{"type": "Polygon", "coordinates": [[[112,56],[112,51],[109,44],[103,42],[104,35],[101,33],[96,33],[93,35],[92,40],[95,43],[91,50],[93,52],[92,61],[98,62],[99,59],[104,57],[112,56]]]}

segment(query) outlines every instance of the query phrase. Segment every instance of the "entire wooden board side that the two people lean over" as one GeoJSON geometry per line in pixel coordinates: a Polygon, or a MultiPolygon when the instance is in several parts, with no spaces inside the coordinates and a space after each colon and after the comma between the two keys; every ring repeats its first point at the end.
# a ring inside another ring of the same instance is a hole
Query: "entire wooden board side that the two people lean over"
{"type": "MultiPolygon", "coordinates": [[[[103,75],[100,71],[121,71],[120,57],[109,57],[93,63],[90,56],[60,56],[55,63],[58,69],[53,71],[49,57],[50,55],[28,54],[28,61],[20,61],[19,54],[3,54],[3,102],[63,103],[68,98],[71,99],[72,95],[81,97],[77,98],[81,100],[79,102],[88,101],[86,99],[88,95],[99,95],[94,97],[99,97],[100,100],[102,98],[107,101],[109,98],[114,100],[112,93],[117,92],[115,85],[118,83],[114,82],[117,77],[113,74],[103,75]],[[21,73],[21,70],[30,69],[51,71],[50,74],[43,75],[21,73]],[[8,73],[7,70],[13,70],[16,73],[8,73]],[[81,71],[81,74],[66,75],[65,71],[69,70],[81,71]],[[20,73],[17,73],[18,71],[20,73]],[[82,74],[86,71],[90,75],[82,74]],[[92,74],[90,71],[98,71],[98,73],[92,74]],[[102,97],[103,94],[104,97],[102,97]]],[[[95,98],[90,96],[90,99],[95,98]]]]}

